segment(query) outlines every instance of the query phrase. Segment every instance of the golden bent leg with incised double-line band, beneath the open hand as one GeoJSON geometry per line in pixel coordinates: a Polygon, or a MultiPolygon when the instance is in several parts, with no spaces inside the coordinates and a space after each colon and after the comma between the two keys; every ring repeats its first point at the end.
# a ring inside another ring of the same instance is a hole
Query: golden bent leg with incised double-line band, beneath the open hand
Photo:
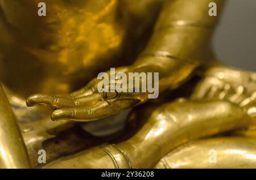
{"type": "MultiPolygon", "coordinates": [[[[231,102],[189,100],[163,105],[143,120],[146,123],[133,137],[115,144],[122,152],[119,154],[127,157],[122,162],[129,162],[132,168],[154,168],[161,157],[179,145],[255,123],[255,119],[231,102]]],[[[88,149],[75,156],[60,158],[46,168],[118,168],[114,158],[117,149],[112,147],[88,149]],[[97,163],[99,157],[104,164],[97,163]]]]}

